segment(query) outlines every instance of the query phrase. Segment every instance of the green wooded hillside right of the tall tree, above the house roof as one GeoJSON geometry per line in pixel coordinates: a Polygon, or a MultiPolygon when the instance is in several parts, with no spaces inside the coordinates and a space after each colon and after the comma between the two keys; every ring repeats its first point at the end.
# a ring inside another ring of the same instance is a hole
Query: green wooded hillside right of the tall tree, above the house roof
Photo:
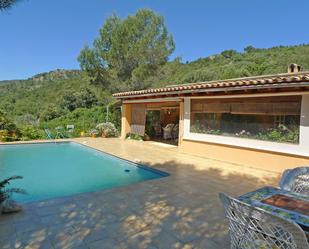
{"type": "Polygon", "coordinates": [[[309,45],[258,49],[248,46],[243,52],[226,50],[190,63],[175,60],[148,79],[154,86],[198,81],[231,79],[263,74],[285,73],[291,63],[309,70],[309,45]]]}

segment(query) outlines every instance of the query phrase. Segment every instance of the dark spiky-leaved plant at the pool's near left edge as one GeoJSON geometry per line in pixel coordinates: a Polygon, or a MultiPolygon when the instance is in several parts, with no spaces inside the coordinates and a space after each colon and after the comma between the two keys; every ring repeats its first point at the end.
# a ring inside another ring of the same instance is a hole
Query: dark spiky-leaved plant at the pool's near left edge
{"type": "Polygon", "coordinates": [[[11,199],[13,193],[26,194],[20,188],[7,188],[12,180],[23,179],[22,176],[11,176],[0,182],[0,210],[2,213],[13,213],[21,211],[22,207],[11,199]]]}

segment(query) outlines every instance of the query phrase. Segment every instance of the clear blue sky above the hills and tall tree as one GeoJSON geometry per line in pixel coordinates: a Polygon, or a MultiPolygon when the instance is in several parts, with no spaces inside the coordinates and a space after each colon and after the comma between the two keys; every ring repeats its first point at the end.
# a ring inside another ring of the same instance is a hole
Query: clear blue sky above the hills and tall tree
{"type": "Polygon", "coordinates": [[[24,0],[0,12],[0,80],[79,68],[79,51],[104,20],[139,8],[165,17],[176,43],[171,58],[183,61],[248,45],[309,43],[308,0],[24,0]]]}

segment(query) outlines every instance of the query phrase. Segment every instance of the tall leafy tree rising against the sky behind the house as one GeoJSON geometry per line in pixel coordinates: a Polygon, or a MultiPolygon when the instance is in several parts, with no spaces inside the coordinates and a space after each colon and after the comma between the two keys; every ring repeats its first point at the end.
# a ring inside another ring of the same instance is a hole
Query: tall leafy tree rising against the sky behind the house
{"type": "Polygon", "coordinates": [[[86,45],[78,61],[93,82],[108,90],[135,90],[147,87],[144,80],[168,61],[174,49],[164,18],[143,9],[124,20],[109,17],[93,47],[86,45]]]}

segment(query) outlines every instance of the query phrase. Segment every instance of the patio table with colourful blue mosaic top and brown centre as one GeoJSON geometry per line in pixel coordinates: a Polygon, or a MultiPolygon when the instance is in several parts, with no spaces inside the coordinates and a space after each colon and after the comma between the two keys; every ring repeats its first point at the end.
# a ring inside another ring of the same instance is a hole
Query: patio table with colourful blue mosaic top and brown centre
{"type": "Polygon", "coordinates": [[[238,198],[297,223],[309,236],[309,197],[275,187],[263,187],[238,198]]]}

